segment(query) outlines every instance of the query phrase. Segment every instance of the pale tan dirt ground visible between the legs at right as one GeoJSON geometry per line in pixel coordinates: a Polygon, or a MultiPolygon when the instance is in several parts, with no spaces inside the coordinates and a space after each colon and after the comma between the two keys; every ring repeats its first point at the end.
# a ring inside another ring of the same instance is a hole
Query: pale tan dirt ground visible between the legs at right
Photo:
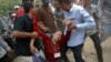
{"type": "MultiPolygon", "coordinates": [[[[111,37],[102,42],[101,45],[103,50],[103,61],[111,62],[111,37]]],[[[85,62],[98,62],[95,49],[90,38],[85,40],[82,54],[85,62]]],[[[70,50],[68,51],[68,56],[71,62],[74,62],[73,54],[70,50]]]]}

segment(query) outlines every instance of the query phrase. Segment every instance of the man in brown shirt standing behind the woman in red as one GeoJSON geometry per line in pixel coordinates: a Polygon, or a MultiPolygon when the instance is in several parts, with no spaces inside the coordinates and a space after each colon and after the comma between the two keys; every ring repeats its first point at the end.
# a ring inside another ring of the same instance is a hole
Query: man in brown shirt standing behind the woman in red
{"type": "Polygon", "coordinates": [[[49,6],[50,0],[42,0],[42,6],[37,10],[39,16],[39,21],[41,21],[46,28],[48,28],[47,32],[53,33],[57,30],[54,18],[52,13],[52,9],[49,6]]]}

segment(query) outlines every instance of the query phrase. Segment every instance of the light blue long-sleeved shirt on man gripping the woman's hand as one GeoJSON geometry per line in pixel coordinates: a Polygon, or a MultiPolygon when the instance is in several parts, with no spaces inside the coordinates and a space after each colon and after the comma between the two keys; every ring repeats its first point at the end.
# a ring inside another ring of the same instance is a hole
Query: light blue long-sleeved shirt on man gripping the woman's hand
{"type": "Polygon", "coordinates": [[[77,25],[77,29],[73,29],[71,32],[68,46],[77,46],[82,44],[84,41],[85,30],[95,27],[93,18],[87,12],[87,10],[77,4],[73,4],[69,12],[64,11],[64,19],[70,20],[73,24],[77,25]],[[73,18],[74,20],[70,20],[73,18]]]}

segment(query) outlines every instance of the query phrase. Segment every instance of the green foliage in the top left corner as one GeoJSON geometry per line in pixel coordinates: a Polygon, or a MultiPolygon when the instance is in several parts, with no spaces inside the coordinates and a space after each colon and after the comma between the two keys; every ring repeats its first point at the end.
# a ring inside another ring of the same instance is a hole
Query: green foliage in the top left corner
{"type": "Polygon", "coordinates": [[[0,17],[13,10],[16,4],[20,4],[21,0],[0,0],[0,17]]]}

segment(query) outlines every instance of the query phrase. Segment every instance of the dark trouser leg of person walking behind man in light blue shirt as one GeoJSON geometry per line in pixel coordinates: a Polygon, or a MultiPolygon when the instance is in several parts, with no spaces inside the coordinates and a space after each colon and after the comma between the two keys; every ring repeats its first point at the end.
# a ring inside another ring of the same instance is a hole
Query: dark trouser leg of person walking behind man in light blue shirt
{"type": "Polygon", "coordinates": [[[90,35],[90,38],[94,43],[94,48],[95,48],[97,55],[98,55],[98,61],[99,62],[103,62],[102,48],[101,48],[101,42],[100,42],[100,38],[99,38],[98,32],[95,32],[94,34],[90,35]]]}

